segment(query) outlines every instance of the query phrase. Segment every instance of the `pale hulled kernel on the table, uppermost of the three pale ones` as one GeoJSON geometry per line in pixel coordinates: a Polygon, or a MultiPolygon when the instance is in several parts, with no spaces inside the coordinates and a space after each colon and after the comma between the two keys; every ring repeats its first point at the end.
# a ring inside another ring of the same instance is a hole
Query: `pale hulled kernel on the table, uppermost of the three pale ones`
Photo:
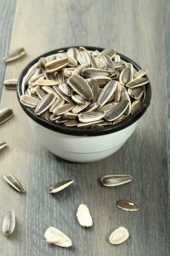
{"type": "Polygon", "coordinates": [[[91,227],[93,221],[88,207],[85,204],[80,204],[77,210],[77,219],[82,227],[91,227]]]}

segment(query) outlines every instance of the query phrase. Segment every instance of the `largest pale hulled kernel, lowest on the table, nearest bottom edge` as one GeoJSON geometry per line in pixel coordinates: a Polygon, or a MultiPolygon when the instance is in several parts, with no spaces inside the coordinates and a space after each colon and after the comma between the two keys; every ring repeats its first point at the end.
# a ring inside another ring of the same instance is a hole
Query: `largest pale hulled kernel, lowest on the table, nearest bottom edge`
{"type": "Polygon", "coordinates": [[[44,236],[48,244],[55,244],[61,247],[70,247],[72,245],[71,239],[55,227],[48,227],[44,236]]]}

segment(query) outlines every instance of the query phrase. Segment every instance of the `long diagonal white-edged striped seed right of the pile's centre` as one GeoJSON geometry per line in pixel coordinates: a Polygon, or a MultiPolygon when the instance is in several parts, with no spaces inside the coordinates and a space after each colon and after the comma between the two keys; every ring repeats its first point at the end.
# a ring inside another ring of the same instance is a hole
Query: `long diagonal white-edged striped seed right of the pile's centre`
{"type": "Polygon", "coordinates": [[[100,93],[98,99],[96,102],[100,103],[100,107],[105,105],[105,103],[108,101],[108,99],[113,95],[114,91],[116,90],[117,82],[116,81],[110,81],[108,84],[105,85],[104,89],[100,93]]]}

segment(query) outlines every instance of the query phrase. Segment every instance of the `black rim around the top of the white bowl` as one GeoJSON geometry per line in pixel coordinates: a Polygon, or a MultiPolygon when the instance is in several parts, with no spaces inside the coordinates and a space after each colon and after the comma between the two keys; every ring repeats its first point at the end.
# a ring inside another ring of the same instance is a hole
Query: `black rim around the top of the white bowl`
{"type": "MultiPolygon", "coordinates": [[[[85,47],[85,49],[88,49],[90,51],[94,51],[97,49],[99,52],[102,52],[104,50],[104,48],[99,48],[99,47],[89,47],[89,46],[84,46],[84,47],[85,47]]],[[[17,83],[17,98],[18,98],[19,102],[20,102],[20,96],[23,95],[23,93],[22,93],[23,78],[24,78],[24,76],[26,76],[28,69],[30,67],[32,67],[36,62],[38,62],[38,60],[41,57],[46,57],[49,55],[57,54],[59,52],[66,52],[69,48],[70,47],[65,47],[65,48],[55,49],[50,52],[46,52],[46,53],[40,55],[39,57],[35,58],[23,69],[23,71],[21,72],[21,74],[19,76],[18,83],[17,83]]],[[[75,46],[75,48],[79,48],[79,46],[75,46]]],[[[116,54],[120,55],[120,58],[123,61],[133,64],[133,67],[137,71],[141,70],[141,67],[139,67],[139,65],[136,64],[134,61],[132,61],[130,58],[128,58],[118,52],[116,52],[116,54]]],[[[147,77],[147,76],[145,76],[145,77],[147,77]]],[[[49,122],[49,121],[43,119],[41,116],[36,116],[34,114],[34,112],[29,107],[26,107],[21,102],[20,102],[20,105],[23,108],[23,111],[25,111],[25,113],[31,119],[33,119],[38,124],[42,125],[43,127],[47,128],[47,129],[50,129],[52,131],[62,133],[62,134],[67,134],[67,135],[73,135],[73,136],[100,136],[100,135],[105,135],[105,134],[111,134],[116,131],[125,129],[128,126],[132,125],[134,122],[136,122],[141,116],[143,116],[143,114],[147,111],[147,108],[150,105],[150,99],[151,99],[150,82],[148,84],[146,84],[145,90],[146,90],[145,99],[144,99],[141,107],[138,109],[138,111],[136,111],[136,113],[134,113],[132,116],[128,117],[127,119],[125,119],[124,121],[122,121],[116,125],[111,125],[109,127],[107,126],[107,127],[98,128],[98,129],[92,129],[92,128],[79,129],[79,128],[74,128],[74,127],[66,127],[66,126],[57,125],[53,122],[49,122]]]]}

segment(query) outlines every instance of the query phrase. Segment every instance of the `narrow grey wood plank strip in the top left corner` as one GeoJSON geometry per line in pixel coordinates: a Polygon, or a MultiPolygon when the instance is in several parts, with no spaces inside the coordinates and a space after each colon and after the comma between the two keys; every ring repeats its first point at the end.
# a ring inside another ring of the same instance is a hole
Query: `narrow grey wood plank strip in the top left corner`
{"type": "MultiPolygon", "coordinates": [[[[8,53],[16,0],[0,1],[0,60],[8,53]]],[[[6,64],[0,61],[0,96],[6,64]]]]}

